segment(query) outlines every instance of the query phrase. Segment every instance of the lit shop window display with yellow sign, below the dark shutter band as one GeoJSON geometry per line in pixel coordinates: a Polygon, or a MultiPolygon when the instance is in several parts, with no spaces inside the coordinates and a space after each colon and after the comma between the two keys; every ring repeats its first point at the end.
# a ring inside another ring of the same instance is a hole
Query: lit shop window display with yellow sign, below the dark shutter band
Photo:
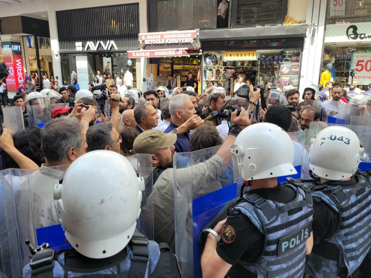
{"type": "Polygon", "coordinates": [[[241,75],[244,84],[299,87],[301,49],[205,51],[203,53],[202,92],[220,86],[233,95],[241,75]]]}

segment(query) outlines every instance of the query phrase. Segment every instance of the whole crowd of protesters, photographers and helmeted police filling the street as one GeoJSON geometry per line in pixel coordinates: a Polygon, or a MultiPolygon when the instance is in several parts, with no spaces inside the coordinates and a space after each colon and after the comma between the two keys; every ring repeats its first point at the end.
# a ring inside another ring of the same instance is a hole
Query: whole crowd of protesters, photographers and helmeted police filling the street
{"type": "MultiPolygon", "coordinates": [[[[234,182],[234,167],[249,190],[230,206],[226,219],[207,227],[203,277],[367,277],[371,187],[368,173],[357,172],[364,153],[357,135],[343,126],[322,129],[310,143],[289,135],[309,129],[324,115],[336,118],[338,103],[368,115],[371,84],[359,99],[354,84],[348,91],[330,83],[303,92],[287,86],[282,92],[271,91],[268,83],[264,93],[247,85],[248,98],[231,99],[223,88],[210,87],[205,100],[193,86],[141,93],[128,90],[122,80],[115,85],[110,74],[100,72],[90,90],[73,83],[39,93],[27,85],[13,99],[22,107],[26,128],[4,129],[0,136],[7,168],[37,169],[17,177],[13,188],[17,214],[27,212],[17,219],[19,237],[35,238],[35,227],[60,223],[73,249],[42,250],[30,264],[22,254],[23,277],[45,273],[41,267],[52,264],[54,277],[77,277],[92,269],[94,275],[181,277],[184,269],[173,254],[176,241],[188,239],[175,236],[174,190],[190,179],[210,188],[217,181],[217,188],[224,188],[234,182]],[[109,104],[103,109],[92,91],[102,84],[109,104]],[[352,98],[357,102],[349,102],[352,98]],[[220,116],[223,109],[230,109],[226,117],[220,116]],[[40,129],[29,122],[27,110],[50,113],[52,120],[40,129]],[[334,136],[338,140],[328,139],[334,136]],[[196,165],[174,155],[208,148],[218,150],[196,165]],[[150,156],[150,179],[129,162],[141,154],[150,156]],[[295,174],[296,165],[307,186],[278,183],[278,177],[295,174]],[[139,214],[148,215],[149,208],[155,241],[135,231],[139,214]],[[47,256],[52,259],[45,262],[47,256]]],[[[236,95],[242,86],[241,77],[236,95]]]]}

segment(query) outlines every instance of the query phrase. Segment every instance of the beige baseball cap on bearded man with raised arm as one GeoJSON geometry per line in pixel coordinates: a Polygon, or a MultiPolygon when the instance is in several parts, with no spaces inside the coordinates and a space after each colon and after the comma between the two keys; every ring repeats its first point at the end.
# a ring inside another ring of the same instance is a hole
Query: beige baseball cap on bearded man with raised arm
{"type": "Polygon", "coordinates": [[[158,149],[173,146],[177,141],[176,134],[165,134],[157,129],[146,130],[138,135],[133,143],[134,153],[154,154],[158,149]]]}

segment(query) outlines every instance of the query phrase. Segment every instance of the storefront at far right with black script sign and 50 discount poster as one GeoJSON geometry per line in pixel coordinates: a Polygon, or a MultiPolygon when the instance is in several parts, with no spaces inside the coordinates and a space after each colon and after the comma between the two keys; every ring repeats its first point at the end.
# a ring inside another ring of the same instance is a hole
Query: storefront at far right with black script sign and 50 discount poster
{"type": "Polygon", "coordinates": [[[364,22],[371,21],[370,13],[370,0],[329,1],[321,72],[331,63],[333,84],[348,87],[351,69],[359,89],[367,89],[371,82],[371,22],[364,22]]]}

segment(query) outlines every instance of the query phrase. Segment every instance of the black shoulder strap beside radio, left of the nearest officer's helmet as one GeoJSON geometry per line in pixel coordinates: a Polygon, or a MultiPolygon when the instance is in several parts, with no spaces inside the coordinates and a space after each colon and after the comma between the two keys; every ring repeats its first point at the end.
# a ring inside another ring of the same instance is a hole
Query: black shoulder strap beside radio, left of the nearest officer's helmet
{"type": "Polygon", "coordinates": [[[30,267],[33,278],[52,278],[54,268],[54,250],[44,249],[32,256],[30,267]]]}

